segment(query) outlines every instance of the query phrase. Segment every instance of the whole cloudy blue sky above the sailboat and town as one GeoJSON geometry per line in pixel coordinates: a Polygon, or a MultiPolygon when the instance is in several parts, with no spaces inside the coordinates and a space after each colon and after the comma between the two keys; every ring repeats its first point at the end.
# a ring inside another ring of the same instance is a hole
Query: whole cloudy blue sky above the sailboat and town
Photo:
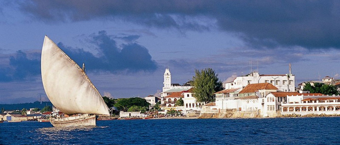
{"type": "Polygon", "coordinates": [[[340,78],[339,1],[0,1],[0,104],[48,101],[40,73],[47,35],[101,95],[159,95],[212,68],[221,81],[253,70],[295,85],[340,78]]]}

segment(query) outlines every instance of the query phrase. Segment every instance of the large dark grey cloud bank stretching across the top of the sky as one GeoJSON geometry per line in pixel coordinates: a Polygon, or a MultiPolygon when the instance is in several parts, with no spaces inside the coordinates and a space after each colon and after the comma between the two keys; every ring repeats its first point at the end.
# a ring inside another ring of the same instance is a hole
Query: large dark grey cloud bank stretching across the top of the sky
{"type": "Polygon", "coordinates": [[[20,8],[46,22],[123,19],[156,28],[235,32],[259,48],[340,48],[338,1],[24,1],[20,8]],[[207,20],[201,19],[207,17],[207,20]]]}

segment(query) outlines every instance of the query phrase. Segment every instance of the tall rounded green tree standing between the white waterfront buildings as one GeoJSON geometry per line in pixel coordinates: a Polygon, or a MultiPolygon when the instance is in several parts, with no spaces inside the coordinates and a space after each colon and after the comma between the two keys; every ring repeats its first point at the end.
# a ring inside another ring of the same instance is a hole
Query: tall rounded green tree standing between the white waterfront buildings
{"type": "Polygon", "coordinates": [[[192,77],[193,97],[197,102],[210,103],[215,101],[215,92],[223,90],[222,82],[211,68],[204,70],[195,70],[195,76],[192,77]]]}

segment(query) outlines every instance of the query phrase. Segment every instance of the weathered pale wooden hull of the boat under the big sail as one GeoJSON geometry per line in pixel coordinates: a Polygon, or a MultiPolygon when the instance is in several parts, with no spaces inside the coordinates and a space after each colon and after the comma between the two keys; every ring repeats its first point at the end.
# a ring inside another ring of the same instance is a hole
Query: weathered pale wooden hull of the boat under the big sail
{"type": "Polygon", "coordinates": [[[97,115],[82,114],[62,119],[52,118],[50,122],[54,127],[96,126],[97,118],[97,115]]]}

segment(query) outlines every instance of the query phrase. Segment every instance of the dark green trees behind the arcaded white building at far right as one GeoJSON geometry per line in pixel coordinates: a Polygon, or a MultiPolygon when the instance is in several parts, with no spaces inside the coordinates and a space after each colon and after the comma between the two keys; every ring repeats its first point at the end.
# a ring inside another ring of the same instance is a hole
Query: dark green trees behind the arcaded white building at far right
{"type": "Polygon", "coordinates": [[[309,93],[321,93],[325,95],[339,95],[339,91],[334,85],[328,85],[323,83],[315,83],[312,86],[309,82],[303,88],[304,91],[309,91],[309,93]]]}

